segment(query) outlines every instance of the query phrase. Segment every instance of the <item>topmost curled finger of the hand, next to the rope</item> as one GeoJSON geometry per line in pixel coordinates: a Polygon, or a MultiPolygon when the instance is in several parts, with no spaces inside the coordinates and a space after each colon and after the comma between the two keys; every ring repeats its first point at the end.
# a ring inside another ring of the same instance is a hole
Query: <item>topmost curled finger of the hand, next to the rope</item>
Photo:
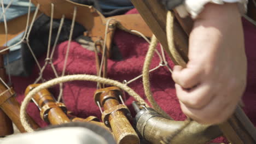
{"type": "Polygon", "coordinates": [[[183,88],[192,88],[201,82],[200,68],[182,68],[176,65],[173,69],[172,78],[175,83],[183,88]]]}

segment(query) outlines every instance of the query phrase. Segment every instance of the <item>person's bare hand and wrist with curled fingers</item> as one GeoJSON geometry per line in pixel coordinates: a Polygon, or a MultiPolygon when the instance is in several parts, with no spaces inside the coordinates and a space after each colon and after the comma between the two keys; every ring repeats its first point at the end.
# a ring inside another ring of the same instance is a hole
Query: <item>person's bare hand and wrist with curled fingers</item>
{"type": "Polygon", "coordinates": [[[203,124],[218,124],[234,112],[246,87],[247,59],[235,3],[207,4],[189,38],[187,68],[173,80],[182,111],[203,124]]]}

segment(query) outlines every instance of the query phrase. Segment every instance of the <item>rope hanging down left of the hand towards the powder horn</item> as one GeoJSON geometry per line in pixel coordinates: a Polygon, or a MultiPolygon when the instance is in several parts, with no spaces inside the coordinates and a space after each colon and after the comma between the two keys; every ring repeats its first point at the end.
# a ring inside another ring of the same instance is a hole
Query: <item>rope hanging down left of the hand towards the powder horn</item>
{"type": "Polygon", "coordinates": [[[150,91],[149,66],[150,66],[150,63],[152,62],[153,54],[157,44],[158,44],[158,40],[156,39],[155,35],[153,35],[151,43],[149,45],[149,50],[147,52],[145,62],[143,65],[143,71],[142,71],[143,87],[144,87],[145,95],[149,103],[153,106],[153,108],[157,112],[161,113],[161,115],[164,116],[165,118],[170,119],[171,117],[164,110],[162,110],[161,107],[156,103],[155,99],[153,98],[152,92],[150,91]]]}

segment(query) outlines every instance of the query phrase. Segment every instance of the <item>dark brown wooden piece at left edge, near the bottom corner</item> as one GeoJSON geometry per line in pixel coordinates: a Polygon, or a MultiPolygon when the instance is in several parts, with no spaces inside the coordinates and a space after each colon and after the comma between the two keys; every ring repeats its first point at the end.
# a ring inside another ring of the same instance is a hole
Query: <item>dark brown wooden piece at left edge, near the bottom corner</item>
{"type": "Polygon", "coordinates": [[[13,123],[0,109],[0,137],[13,134],[13,123]]]}

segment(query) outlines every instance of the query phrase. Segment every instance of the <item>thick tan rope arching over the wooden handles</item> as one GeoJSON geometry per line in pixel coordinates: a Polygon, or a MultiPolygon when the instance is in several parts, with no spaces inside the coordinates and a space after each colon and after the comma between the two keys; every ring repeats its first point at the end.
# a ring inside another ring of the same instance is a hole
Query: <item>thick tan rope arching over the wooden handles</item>
{"type": "Polygon", "coordinates": [[[135,98],[139,103],[148,106],[148,104],[130,87],[126,86],[125,84],[123,84],[121,82],[115,81],[115,80],[110,80],[110,79],[106,79],[106,78],[102,78],[102,77],[98,77],[98,76],[94,76],[94,75],[68,75],[68,76],[58,77],[53,80],[42,83],[41,85],[34,88],[31,92],[29,92],[26,95],[26,97],[20,107],[20,121],[26,131],[28,131],[28,132],[34,131],[31,128],[30,124],[28,124],[27,118],[26,118],[26,107],[27,107],[28,103],[30,102],[31,98],[33,97],[33,95],[38,93],[42,89],[49,88],[49,87],[52,87],[59,83],[68,82],[68,81],[94,81],[94,82],[104,83],[106,85],[120,87],[121,89],[126,91],[128,94],[130,94],[133,98],[135,98]]]}

